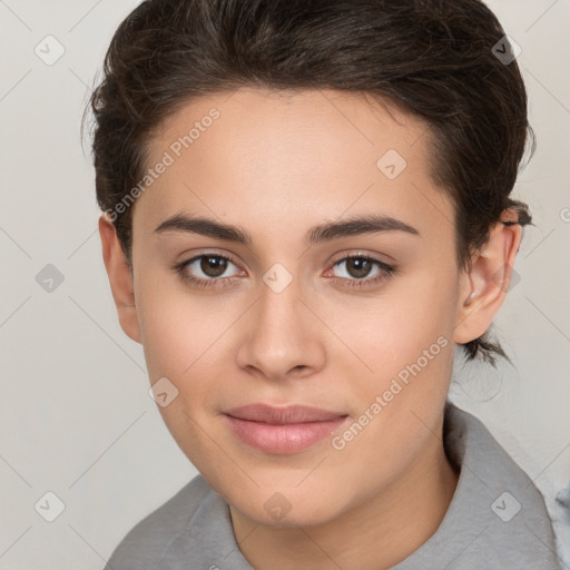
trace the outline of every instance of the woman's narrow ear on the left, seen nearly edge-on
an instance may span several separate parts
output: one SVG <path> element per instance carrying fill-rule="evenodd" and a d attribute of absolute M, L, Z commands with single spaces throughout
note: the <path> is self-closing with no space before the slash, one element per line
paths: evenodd
<path fill-rule="evenodd" d="M 99 218 L 99 235 L 102 245 L 102 259 L 109 276 L 120 326 L 127 336 L 139 343 L 140 331 L 135 304 L 132 274 L 117 237 L 115 225 L 106 214 L 102 214 Z"/>

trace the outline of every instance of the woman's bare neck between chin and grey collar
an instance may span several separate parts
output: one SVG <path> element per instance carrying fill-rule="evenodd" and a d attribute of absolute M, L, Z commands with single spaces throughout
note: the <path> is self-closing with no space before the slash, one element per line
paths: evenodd
<path fill-rule="evenodd" d="M 323 524 L 268 527 L 230 507 L 242 553 L 257 570 L 381 570 L 401 562 L 438 530 L 458 485 L 442 441 L 430 444 L 389 487 Z"/>

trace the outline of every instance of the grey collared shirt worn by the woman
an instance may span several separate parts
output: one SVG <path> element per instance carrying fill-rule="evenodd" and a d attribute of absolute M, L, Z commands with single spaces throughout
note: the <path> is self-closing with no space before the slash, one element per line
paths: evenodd
<path fill-rule="evenodd" d="M 470 413 L 445 406 L 444 449 L 461 469 L 435 533 L 392 570 L 560 570 L 544 500 Z M 105 570 L 252 570 L 227 503 L 202 475 L 137 523 Z"/>

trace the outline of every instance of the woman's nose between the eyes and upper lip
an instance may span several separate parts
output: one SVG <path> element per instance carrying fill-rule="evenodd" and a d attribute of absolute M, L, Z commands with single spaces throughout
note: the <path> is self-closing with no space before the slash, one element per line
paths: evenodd
<path fill-rule="evenodd" d="M 305 377 L 325 364 L 326 326 L 311 307 L 298 279 L 282 291 L 263 282 L 259 297 L 243 316 L 237 364 L 272 381 Z"/>

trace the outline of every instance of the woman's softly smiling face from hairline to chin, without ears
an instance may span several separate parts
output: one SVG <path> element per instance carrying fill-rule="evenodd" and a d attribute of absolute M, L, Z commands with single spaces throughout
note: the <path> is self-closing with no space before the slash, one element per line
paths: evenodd
<path fill-rule="evenodd" d="M 362 94 L 253 89 L 153 138 L 148 165 L 167 166 L 134 206 L 121 324 L 177 393 L 159 410 L 180 449 L 253 520 L 331 520 L 441 445 L 464 282 L 429 144 Z M 334 420 L 227 415 L 258 403 Z"/>

